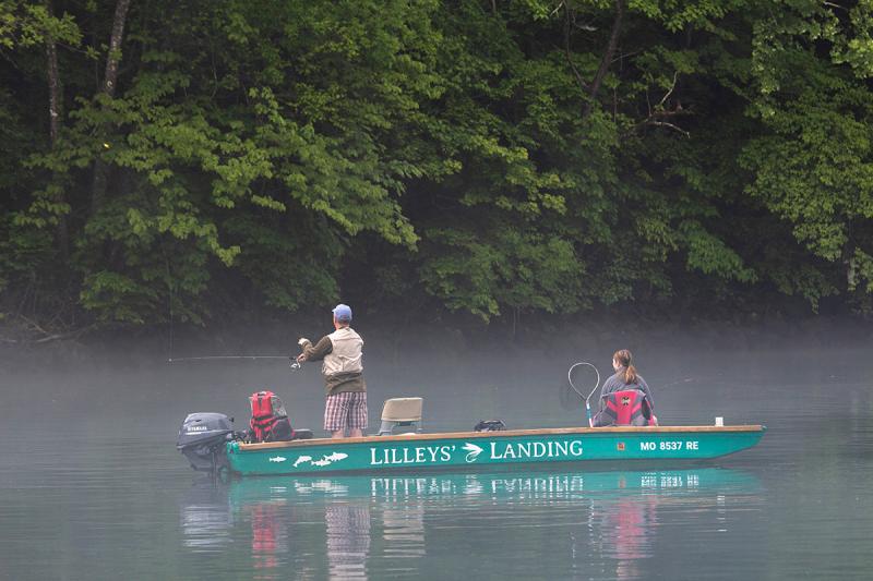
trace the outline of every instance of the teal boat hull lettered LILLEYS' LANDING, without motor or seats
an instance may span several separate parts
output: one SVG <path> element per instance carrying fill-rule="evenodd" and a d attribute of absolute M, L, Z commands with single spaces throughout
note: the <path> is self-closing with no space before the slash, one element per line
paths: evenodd
<path fill-rule="evenodd" d="M 227 445 L 240 475 L 477 470 L 513 464 L 708 460 L 756 445 L 765 427 L 513 429 Z"/>

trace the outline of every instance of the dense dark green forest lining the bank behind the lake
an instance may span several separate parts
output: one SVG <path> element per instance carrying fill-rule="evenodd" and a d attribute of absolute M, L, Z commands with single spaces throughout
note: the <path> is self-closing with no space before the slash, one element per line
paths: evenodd
<path fill-rule="evenodd" d="M 872 29 L 841 0 L 0 0 L 3 340 L 338 301 L 866 316 Z"/>

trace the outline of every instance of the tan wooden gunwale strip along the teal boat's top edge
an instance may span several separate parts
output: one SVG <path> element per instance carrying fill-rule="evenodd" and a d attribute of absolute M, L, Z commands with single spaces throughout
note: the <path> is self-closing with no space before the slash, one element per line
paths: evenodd
<path fill-rule="evenodd" d="M 256 444 L 234 443 L 240 452 L 254 452 L 274 448 L 308 448 L 311 446 L 345 446 L 347 444 L 372 444 L 388 441 L 427 441 L 434 439 L 502 438 L 513 436 L 562 436 L 573 434 L 675 434 L 675 433 L 737 433 L 765 432 L 760 424 L 715 426 L 609 426 L 609 427 L 543 427 L 533 429 L 502 429 L 499 432 L 441 432 L 427 434 L 397 434 L 391 436 L 362 436 L 355 438 L 310 438 Z"/>

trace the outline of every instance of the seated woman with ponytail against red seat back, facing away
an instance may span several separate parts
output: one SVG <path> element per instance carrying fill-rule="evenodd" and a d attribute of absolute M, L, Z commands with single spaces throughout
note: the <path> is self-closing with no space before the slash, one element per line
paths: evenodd
<path fill-rule="evenodd" d="M 610 425 L 658 425 L 651 391 L 631 365 L 631 352 L 626 349 L 612 355 L 615 374 L 603 383 L 600 390 L 600 411 L 594 417 L 594 426 Z"/>

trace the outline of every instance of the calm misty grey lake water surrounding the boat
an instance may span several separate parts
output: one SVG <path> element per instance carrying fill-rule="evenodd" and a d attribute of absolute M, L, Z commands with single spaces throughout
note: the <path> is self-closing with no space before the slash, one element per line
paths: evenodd
<path fill-rule="evenodd" d="M 662 423 L 767 425 L 758 447 L 714 464 L 229 484 L 199 479 L 177 452 L 186 413 L 241 427 L 247 395 L 270 387 L 298 427 L 319 428 L 315 367 L 8 362 L 0 578 L 870 579 L 873 346 L 818 343 L 629 344 Z M 589 361 L 606 372 L 619 347 Z M 373 352 L 371 427 L 402 395 L 424 397 L 427 431 L 584 423 L 562 390 L 577 353 L 398 364 Z"/>

